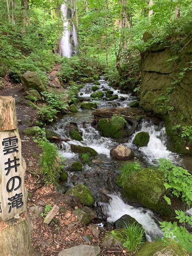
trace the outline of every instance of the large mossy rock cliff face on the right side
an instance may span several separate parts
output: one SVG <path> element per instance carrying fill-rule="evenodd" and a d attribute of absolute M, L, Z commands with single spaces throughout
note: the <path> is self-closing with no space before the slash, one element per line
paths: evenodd
<path fill-rule="evenodd" d="M 192 42 L 179 52 L 170 45 L 143 53 L 141 81 L 140 107 L 163 117 L 171 150 L 192 154 L 192 142 L 181 139 L 182 127 L 192 125 Z"/>

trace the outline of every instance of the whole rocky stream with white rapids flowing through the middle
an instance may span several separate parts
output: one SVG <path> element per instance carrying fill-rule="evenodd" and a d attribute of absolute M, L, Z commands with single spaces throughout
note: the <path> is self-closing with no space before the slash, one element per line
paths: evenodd
<path fill-rule="evenodd" d="M 114 90 L 108 85 L 108 83 L 101 77 L 99 90 L 106 88 L 112 90 L 114 94 L 119 97 L 117 100 L 97 100 L 95 101 L 98 108 L 110 108 L 110 107 L 128 107 L 135 97 L 131 94 L 122 93 L 119 90 Z M 90 100 L 90 94 L 92 93 L 93 83 L 86 83 L 80 90 L 81 97 Z M 93 99 L 91 99 L 94 101 Z M 60 153 L 66 158 L 64 164 L 66 171 L 68 171 L 68 182 L 65 183 L 64 192 L 74 186 L 74 184 L 83 183 L 87 186 L 95 199 L 95 207 L 102 212 L 98 224 L 103 226 L 103 215 L 107 216 L 107 222 L 115 222 L 121 216 L 128 214 L 135 218 L 145 228 L 147 241 L 153 241 L 156 237 L 162 237 L 162 231 L 158 227 L 158 221 L 160 221 L 158 215 L 151 210 L 141 207 L 138 204 L 126 201 L 119 192 L 119 188 L 116 185 L 116 178 L 119 175 L 119 167 L 125 161 L 113 160 L 110 157 L 110 150 L 119 143 L 115 139 L 102 137 L 98 130 L 92 127 L 94 116 L 93 110 L 79 109 L 77 113 L 64 116 L 51 128 L 61 138 L 70 138 L 67 125 L 70 122 L 75 122 L 78 126 L 79 132 L 81 132 L 83 141 L 71 140 L 69 142 L 62 142 L 59 145 Z M 136 147 L 133 144 L 133 140 L 137 132 L 145 131 L 150 135 L 149 143 L 147 147 Z M 98 152 L 98 155 L 94 157 L 90 166 L 87 164 L 83 166 L 83 170 L 80 172 L 71 172 L 70 164 L 78 161 L 78 154 L 72 153 L 70 144 L 92 147 Z M 144 167 L 157 164 L 158 158 L 171 159 L 174 164 L 182 166 L 183 159 L 179 154 L 175 154 L 167 149 L 167 136 L 164 127 L 164 122 L 154 121 L 154 119 L 143 119 L 136 132 L 132 134 L 130 139 L 126 143 L 121 143 L 132 149 L 134 153 L 134 160 L 140 162 Z M 126 161 L 127 162 L 127 161 Z M 100 223 L 101 222 L 101 223 Z"/>

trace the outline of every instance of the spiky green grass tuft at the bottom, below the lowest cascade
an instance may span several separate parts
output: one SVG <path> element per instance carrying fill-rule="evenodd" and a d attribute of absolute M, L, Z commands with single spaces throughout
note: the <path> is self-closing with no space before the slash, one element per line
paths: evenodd
<path fill-rule="evenodd" d="M 145 242 L 144 240 L 145 230 L 138 223 L 132 223 L 126 226 L 125 228 L 125 241 L 123 246 L 129 252 L 137 252 L 141 245 Z"/>

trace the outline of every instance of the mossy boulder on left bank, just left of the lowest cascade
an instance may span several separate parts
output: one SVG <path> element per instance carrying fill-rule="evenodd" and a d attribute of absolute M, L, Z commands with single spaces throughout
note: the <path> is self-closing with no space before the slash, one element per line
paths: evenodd
<path fill-rule="evenodd" d="M 91 191 L 83 184 L 70 188 L 70 190 L 66 192 L 66 195 L 79 197 L 82 205 L 92 206 L 94 204 L 94 197 Z"/>

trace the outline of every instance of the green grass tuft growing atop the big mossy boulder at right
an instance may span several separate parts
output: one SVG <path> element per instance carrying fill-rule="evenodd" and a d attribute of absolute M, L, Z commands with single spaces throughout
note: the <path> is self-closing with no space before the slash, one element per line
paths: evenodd
<path fill-rule="evenodd" d="M 141 165 L 138 162 L 127 162 L 121 166 L 121 182 L 120 186 L 124 188 L 129 177 L 141 171 Z"/>

